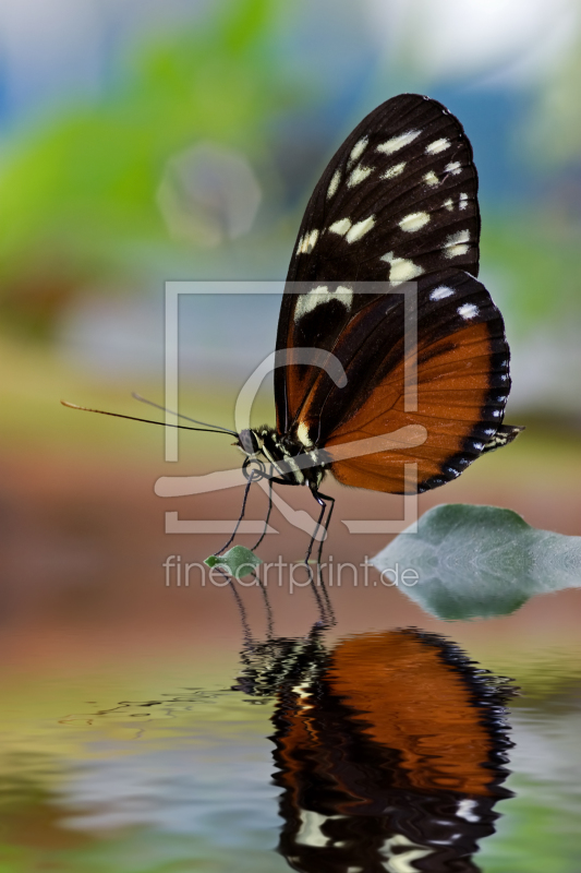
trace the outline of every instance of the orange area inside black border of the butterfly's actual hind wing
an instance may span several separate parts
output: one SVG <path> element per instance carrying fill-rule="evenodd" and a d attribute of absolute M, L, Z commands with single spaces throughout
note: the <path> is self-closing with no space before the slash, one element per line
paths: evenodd
<path fill-rule="evenodd" d="M 486 323 L 458 332 L 451 347 L 448 338 L 439 340 L 432 347 L 429 360 L 417 366 L 417 411 L 406 410 L 402 362 L 374 390 L 367 403 L 334 432 L 326 450 L 332 458 L 335 445 L 379 436 L 410 424 L 426 429 L 425 442 L 401 452 L 338 461 L 331 467 L 336 479 L 355 488 L 414 493 L 415 481 L 406 483 L 406 464 L 417 464 L 419 491 L 458 477 L 481 455 L 501 421 L 498 414 L 504 408 L 504 394 L 499 395 L 492 382 L 507 374 L 508 367 L 495 367 L 497 348 Z M 508 363 L 508 348 L 503 360 Z"/>

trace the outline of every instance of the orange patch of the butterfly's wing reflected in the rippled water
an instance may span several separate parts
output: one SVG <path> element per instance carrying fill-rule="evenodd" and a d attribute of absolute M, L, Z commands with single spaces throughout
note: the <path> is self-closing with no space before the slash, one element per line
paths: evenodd
<path fill-rule="evenodd" d="M 461 671 L 437 646 L 400 631 L 346 639 L 334 651 L 328 680 L 364 733 L 399 750 L 395 785 L 488 793 L 493 738 Z"/>

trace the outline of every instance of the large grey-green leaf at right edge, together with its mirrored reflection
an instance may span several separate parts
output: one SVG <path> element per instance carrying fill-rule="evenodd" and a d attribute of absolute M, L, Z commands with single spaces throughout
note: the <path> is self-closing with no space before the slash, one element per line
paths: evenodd
<path fill-rule="evenodd" d="M 511 510 L 448 504 L 426 512 L 415 535 L 400 534 L 373 563 L 391 571 L 386 585 L 397 570 L 400 590 L 436 618 L 493 618 L 533 595 L 581 587 L 581 537 L 537 530 Z M 408 569 L 415 584 L 401 584 Z"/>

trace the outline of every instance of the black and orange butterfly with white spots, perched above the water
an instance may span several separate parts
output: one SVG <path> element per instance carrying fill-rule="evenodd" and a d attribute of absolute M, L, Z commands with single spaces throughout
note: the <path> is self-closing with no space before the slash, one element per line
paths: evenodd
<path fill-rule="evenodd" d="M 477 187 L 458 119 L 437 100 L 401 94 L 363 119 L 313 191 L 280 310 L 277 352 L 286 366 L 275 370 L 276 427 L 243 431 L 238 445 L 271 464 L 274 481 L 307 486 L 322 507 L 319 524 L 327 501 L 332 511 L 319 491 L 329 473 L 355 488 L 421 493 L 522 430 L 503 424 L 510 351 L 503 316 L 476 278 Z M 406 299 L 396 292 L 410 282 L 411 409 Z M 382 290 L 386 284 L 392 294 Z M 323 358 L 305 363 L 306 349 Z M 342 380 L 322 366 L 325 355 L 340 364 Z M 386 434 L 402 439 L 380 451 Z M 370 439 L 379 451 L 344 457 L 342 446 Z"/>

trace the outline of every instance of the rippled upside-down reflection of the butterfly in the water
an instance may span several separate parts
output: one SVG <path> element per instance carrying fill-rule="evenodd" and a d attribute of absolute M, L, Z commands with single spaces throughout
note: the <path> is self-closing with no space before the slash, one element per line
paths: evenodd
<path fill-rule="evenodd" d="M 313 873 L 476 871 L 507 776 L 507 680 L 419 630 L 247 643 L 237 690 L 275 695 L 278 851 Z"/>

